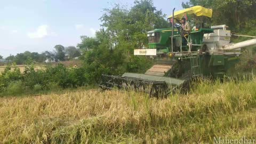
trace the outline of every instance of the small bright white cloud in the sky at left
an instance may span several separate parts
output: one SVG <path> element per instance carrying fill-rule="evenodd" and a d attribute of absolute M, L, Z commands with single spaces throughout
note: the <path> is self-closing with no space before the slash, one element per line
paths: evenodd
<path fill-rule="evenodd" d="M 41 25 L 37 28 L 35 32 L 29 32 L 27 35 L 29 38 L 44 38 L 46 36 L 55 36 L 57 34 L 55 34 L 54 32 L 50 32 L 49 26 Z"/>

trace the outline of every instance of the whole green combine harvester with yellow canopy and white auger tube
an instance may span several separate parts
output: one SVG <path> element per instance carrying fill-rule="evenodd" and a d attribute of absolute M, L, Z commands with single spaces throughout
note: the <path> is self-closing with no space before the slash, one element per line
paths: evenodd
<path fill-rule="evenodd" d="M 211 9 L 193 6 L 177 12 L 174 10 L 168 18 L 172 28 L 148 31 L 148 49 L 134 50 L 134 55 L 153 58 L 153 67 L 145 74 L 102 75 L 99 84 L 102 89 L 140 90 L 149 93 L 150 97 L 167 95 L 177 87 L 186 87 L 194 77 L 223 77 L 238 62 L 241 48 L 256 45 L 255 37 L 230 43 L 231 33 L 226 25 L 204 27 L 207 19 L 212 17 Z M 177 24 L 183 17 L 189 18 L 193 28 L 187 35 Z"/>

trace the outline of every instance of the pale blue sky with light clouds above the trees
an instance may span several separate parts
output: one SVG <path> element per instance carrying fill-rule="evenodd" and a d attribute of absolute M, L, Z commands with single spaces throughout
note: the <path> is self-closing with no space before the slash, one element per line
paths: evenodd
<path fill-rule="evenodd" d="M 157 10 L 171 15 L 188 0 L 153 0 Z M 93 37 L 100 29 L 103 9 L 133 0 L 0 0 L 0 55 L 52 51 L 57 44 L 76 46 L 80 36 Z"/>

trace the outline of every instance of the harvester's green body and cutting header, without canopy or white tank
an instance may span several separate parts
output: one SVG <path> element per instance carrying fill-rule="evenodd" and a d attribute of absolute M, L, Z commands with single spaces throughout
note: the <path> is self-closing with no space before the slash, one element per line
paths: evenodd
<path fill-rule="evenodd" d="M 203 36 L 213 33 L 212 29 L 202 28 L 191 31 L 186 36 L 189 46 L 182 44 L 180 33 L 182 31 L 178 29 L 172 31 L 170 28 L 149 31 L 149 49 L 156 49 L 154 66 L 145 74 L 102 75 L 99 86 L 103 90 L 117 87 L 124 90 L 143 91 L 149 93 L 150 97 L 165 97 L 178 87 L 188 90 L 191 77 L 221 78 L 238 61 L 235 54 L 205 51 Z"/>

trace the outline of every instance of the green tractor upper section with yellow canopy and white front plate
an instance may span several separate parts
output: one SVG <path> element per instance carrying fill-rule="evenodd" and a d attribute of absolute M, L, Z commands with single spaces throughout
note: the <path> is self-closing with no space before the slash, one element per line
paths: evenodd
<path fill-rule="evenodd" d="M 193 27 L 190 31 L 184 31 L 181 26 L 181 19 L 186 17 L 188 25 Z M 206 27 L 207 18 L 212 17 L 212 10 L 202 6 L 194 6 L 189 9 L 174 12 L 167 19 L 172 28 L 155 29 L 148 31 L 149 49 L 134 50 L 135 55 L 169 55 L 180 57 L 193 54 L 200 50 L 203 44 L 204 34 L 213 33 L 213 29 Z M 185 34 L 186 32 L 186 34 Z M 185 40 L 185 41 L 184 41 Z M 153 52 L 154 49 L 155 51 Z M 171 55 L 170 55 L 171 54 Z"/>

